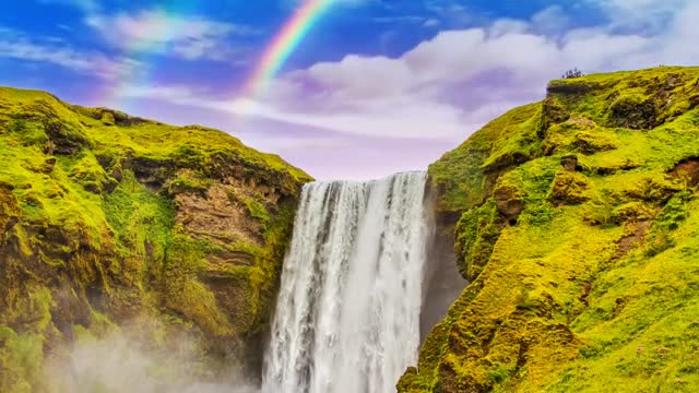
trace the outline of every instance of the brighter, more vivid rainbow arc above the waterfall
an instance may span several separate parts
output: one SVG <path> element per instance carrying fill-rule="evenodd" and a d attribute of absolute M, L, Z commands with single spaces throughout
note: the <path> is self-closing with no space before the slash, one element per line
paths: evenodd
<path fill-rule="evenodd" d="M 260 95 L 333 0 L 304 0 L 272 39 L 244 88 L 244 97 Z"/>

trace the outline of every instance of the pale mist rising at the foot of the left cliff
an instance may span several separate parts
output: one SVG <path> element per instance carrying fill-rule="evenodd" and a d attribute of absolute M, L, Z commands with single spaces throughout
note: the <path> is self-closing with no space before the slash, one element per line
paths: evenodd
<path fill-rule="evenodd" d="M 50 393 L 257 393 L 235 367 L 204 362 L 186 335 L 167 340 L 167 347 L 121 332 L 103 340 L 79 340 L 48 359 L 46 390 Z M 223 376 L 222 376 L 223 374 Z"/>

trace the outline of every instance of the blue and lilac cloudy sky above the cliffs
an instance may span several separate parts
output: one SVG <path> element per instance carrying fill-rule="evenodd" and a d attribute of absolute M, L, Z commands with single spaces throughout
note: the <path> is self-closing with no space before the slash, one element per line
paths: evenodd
<path fill-rule="evenodd" d="M 371 179 L 426 169 L 568 69 L 696 66 L 696 0 L 8 1 L 0 85 L 216 128 L 317 179 Z"/>

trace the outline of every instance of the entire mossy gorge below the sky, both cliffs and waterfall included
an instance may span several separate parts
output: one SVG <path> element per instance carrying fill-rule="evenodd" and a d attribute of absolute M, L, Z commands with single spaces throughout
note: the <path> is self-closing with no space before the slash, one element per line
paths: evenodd
<path fill-rule="evenodd" d="M 698 134 L 697 68 L 594 74 L 312 181 L 2 87 L 0 391 L 692 392 Z"/>

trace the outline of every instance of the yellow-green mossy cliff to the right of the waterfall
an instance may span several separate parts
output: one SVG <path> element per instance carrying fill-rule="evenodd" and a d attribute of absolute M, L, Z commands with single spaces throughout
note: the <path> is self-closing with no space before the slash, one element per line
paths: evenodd
<path fill-rule="evenodd" d="M 400 392 L 699 386 L 699 69 L 554 81 L 429 169 L 471 279 Z"/>

